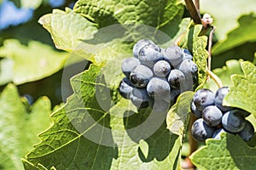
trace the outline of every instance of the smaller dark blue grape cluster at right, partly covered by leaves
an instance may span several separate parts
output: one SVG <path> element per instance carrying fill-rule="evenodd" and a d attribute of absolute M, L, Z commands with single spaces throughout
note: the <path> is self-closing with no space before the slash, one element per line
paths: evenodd
<path fill-rule="evenodd" d="M 196 91 L 191 111 L 199 119 L 193 123 L 191 133 L 197 141 L 220 139 L 220 133 L 238 134 L 246 142 L 253 138 L 254 127 L 245 119 L 250 113 L 223 105 L 229 91 L 228 87 L 218 88 L 216 94 L 207 88 Z"/>

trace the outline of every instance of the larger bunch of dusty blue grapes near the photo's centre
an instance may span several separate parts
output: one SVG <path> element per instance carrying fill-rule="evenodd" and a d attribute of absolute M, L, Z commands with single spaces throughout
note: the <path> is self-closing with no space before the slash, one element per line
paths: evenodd
<path fill-rule="evenodd" d="M 137 108 L 166 111 L 179 94 L 193 90 L 198 68 L 187 49 L 160 48 L 142 39 L 133 46 L 133 55 L 123 60 L 125 78 L 119 83 L 119 94 Z"/>

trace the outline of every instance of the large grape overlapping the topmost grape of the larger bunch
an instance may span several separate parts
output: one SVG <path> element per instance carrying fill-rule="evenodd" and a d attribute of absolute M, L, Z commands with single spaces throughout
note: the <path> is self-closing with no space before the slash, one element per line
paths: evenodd
<path fill-rule="evenodd" d="M 138 59 L 141 64 L 147 65 L 150 69 L 153 69 L 157 61 L 164 59 L 164 55 L 157 51 L 152 45 L 146 45 L 140 50 Z"/>

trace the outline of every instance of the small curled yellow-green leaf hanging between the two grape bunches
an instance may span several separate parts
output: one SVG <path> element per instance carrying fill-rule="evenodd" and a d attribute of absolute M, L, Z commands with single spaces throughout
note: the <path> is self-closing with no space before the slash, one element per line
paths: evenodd
<path fill-rule="evenodd" d="M 177 135 L 183 136 L 189 124 L 190 103 L 194 92 L 184 92 L 177 98 L 166 117 L 167 128 Z"/>

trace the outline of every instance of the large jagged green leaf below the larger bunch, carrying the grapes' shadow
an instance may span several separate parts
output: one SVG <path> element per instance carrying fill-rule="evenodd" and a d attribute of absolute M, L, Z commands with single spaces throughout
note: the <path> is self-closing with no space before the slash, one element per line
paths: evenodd
<path fill-rule="evenodd" d="M 166 115 L 137 111 L 127 99 L 113 105 L 104 77 L 96 65 L 73 77 L 74 94 L 26 161 L 48 169 L 177 169 L 180 139 L 166 129 Z"/>

